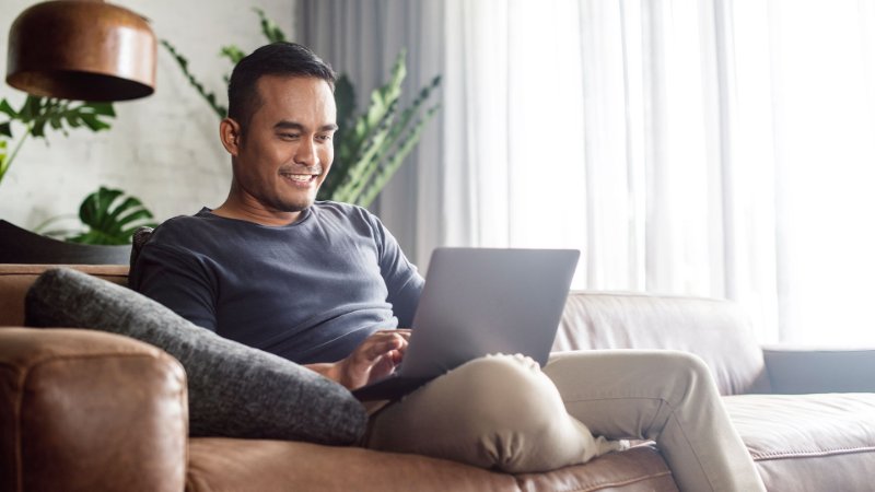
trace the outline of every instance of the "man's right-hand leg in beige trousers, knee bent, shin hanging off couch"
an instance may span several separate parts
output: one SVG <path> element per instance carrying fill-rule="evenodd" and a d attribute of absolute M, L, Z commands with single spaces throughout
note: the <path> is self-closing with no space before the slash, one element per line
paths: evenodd
<path fill-rule="evenodd" d="M 557 353 L 544 368 L 596 435 L 656 441 L 682 491 L 763 491 L 701 359 L 674 351 Z"/>

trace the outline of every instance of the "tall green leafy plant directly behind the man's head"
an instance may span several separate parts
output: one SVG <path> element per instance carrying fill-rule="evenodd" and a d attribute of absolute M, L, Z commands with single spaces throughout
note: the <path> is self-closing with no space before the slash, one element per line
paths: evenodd
<path fill-rule="evenodd" d="M 267 19 L 260 9 L 258 14 L 261 34 L 269 43 L 285 40 L 279 26 Z M 188 69 L 188 60 L 166 39 L 164 46 L 173 55 L 183 74 L 192 87 L 210 105 L 219 118 L 224 118 L 228 108 L 218 103 L 214 93 L 205 89 Z M 341 74 L 336 83 L 337 120 L 340 127 L 335 134 L 335 162 L 331 172 L 319 189 L 320 200 L 345 201 L 370 206 L 392 176 L 416 148 L 428 122 L 438 113 L 440 105 L 425 107 L 432 93 L 441 84 L 434 77 L 422 87 L 406 108 L 400 108 L 401 85 L 407 77 L 405 50 L 398 55 L 389 81 L 371 93 L 368 109 L 355 116 L 355 91 L 349 78 Z M 220 56 L 232 63 L 245 55 L 236 46 L 223 46 Z M 228 75 L 224 77 L 228 82 Z"/>

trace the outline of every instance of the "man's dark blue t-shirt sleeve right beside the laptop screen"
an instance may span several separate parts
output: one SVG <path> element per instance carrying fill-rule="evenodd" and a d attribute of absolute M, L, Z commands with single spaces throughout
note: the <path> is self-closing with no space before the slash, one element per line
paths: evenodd
<path fill-rule="evenodd" d="M 409 328 L 419 305 L 419 296 L 425 281 L 401 251 L 401 247 L 385 225 L 373 216 L 380 248 L 380 272 L 388 290 L 387 301 L 398 318 L 398 326 Z"/>

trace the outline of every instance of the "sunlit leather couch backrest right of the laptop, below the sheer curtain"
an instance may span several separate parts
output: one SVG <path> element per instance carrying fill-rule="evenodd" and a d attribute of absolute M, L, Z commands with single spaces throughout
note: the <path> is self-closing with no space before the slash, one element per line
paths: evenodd
<path fill-rule="evenodd" d="M 669 349 L 704 360 L 723 395 L 768 391 L 762 350 L 731 301 L 575 291 L 553 350 Z"/>

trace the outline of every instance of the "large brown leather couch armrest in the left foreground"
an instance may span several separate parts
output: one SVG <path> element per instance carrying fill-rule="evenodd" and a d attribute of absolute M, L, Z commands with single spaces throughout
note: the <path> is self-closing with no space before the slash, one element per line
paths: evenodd
<path fill-rule="evenodd" d="M 186 379 L 117 335 L 0 328 L 0 491 L 182 491 Z"/>

